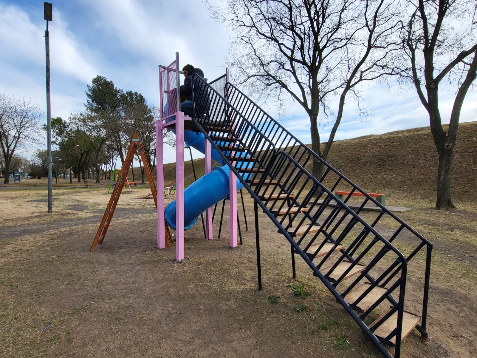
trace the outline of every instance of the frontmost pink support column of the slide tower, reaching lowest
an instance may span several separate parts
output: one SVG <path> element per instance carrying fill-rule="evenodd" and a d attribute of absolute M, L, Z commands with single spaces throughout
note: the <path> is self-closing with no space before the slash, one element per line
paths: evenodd
<path fill-rule="evenodd" d="M 184 112 L 176 114 L 176 261 L 184 259 Z"/>

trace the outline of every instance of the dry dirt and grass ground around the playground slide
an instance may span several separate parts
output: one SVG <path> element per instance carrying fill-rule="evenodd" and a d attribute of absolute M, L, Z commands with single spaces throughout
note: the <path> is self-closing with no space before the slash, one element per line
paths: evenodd
<path fill-rule="evenodd" d="M 107 188 L 55 188 L 50 214 L 45 189 L 0 190 L 0 357 L 381 357 L 300 260 L 291 278 L 290 246 L 261 213 L 257 290 L 248 195 L 243 245 L 230 249 L 227 215 L 211 241 L 199 220 L 186 232 L 189 261 L 171 263 L 174 245 L 156 249 L 154 202 L 140 199 L 147 193 L 147 185 L 124 192 L 104 243 L 90 253 Z M 430 344 L 414 331 L 401 357 L 476 357 L 477 205 L 409 206 L 400 216 L 435 250 Z M 308 298 L 295 298 L 289 285 L 297 283 Z"/>

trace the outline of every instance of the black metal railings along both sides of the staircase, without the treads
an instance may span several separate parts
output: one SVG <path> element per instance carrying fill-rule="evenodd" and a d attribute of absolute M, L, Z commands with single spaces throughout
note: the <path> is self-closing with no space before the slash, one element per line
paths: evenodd
<path fill-rule="evenodd" d="M 422 324 L 417 327 L 423 336 L 426 337 L 425 323 L 427 316 L 430 252 L 432 250 L 432 244 L 395 216 L 391 211 L 387 210 L 383 205 L 353 184 L 351 180 L 342 176 L 341 173 L 322 160 L 310 148 L 302 144 L 296 137 L 291 135 L 290 132 L 266 114 L 258 105 L 251 101 L 236 87 L 231 84 L 226 84 L 224 95 L 222 96 L 216 89 L 212 88 L 198 76 L 195 76 L 192 82 L 195 101 L 193 120 L 197 127 L 200 128 L 207 139 L 211 141 L 214 148 L 220 153 L 221 157 L 243 182 L 245 188 L 250 192 L 259 206 L 262 207 L 270 219 L 277 225 L 280 232 L 287 238 L 295 252 L 300 254 L 303 260 L 311 267 L 313 273 L 321 278 L 332 294 L 335 295 L 337 301 L 339 301 L 348 313 L 353 316 L 353 319 L 363 331 L 370 336 L 373 342 L 378 345 L 386 357 L 391 357 L 391 355 L 385 349 L 384 344 L 394 336 L 396 337 L 395 357 L 399 357 L 401 327 L 404 315 L 407 262 L 411 260 L 415 254 L 422 249 L 422 247 L 427 247 L 423 316 Z M 320 180 L 314 178 L 305 169 L 310 158 L 320 160 L 326 168 Z M 247 164 L 244 165 L 243 163 Z M 244 174 L 245 172 L 249 172 L 251 167 L 263 168 L 263 171 Z M 330 175 L 330 173 L 334 173 L 338 177 L 334 185 L 331 186 L 331 190 L 323 184 L 323 181 L 327 179 L 327 176 Z M 281 179 L 284 179 L 283 184 L 280 183 Z M 357 212 L 354 212 L 346 204 L 349 197 L 345 200 L 340 200 L 333 193 L 341 180 L 352 186 L 351 192 L 358 190 L 363 193 L 365 201 Z M 254 184 L 256 186 L 255 189 L 252 190 L 251 186 Z M 296 190 L 298 190 L 298 192 L 296 192 Z M 268 191 L 270 195 L 268 196 L 268 199 L 261 200 L 260 198 L 264 197 L 262 194 L 265 191 Z M 260 194 L 260 192 L 262 194 Z M 292 195 L 291 192 L 294 194 Z M 274 193 L 277 194 L 277 199 L 273 200 L 271 199 L 271 194 Z M 279 204 L 278 197 L 282 193 L 285 194 L 287 200 L 283 200 L 281 201 L 281 204 Z M 321 198 L 323 198 L 323 200 L 322 202 L 319 202 Z M 363 210 L 365 203 L 370 200 L 381 209 L 381 213 L 372 224 L 368 224 L 359 215 L 359 212 Z M 285 201 L 287 201 L 290 206 L 285 210 L 283 218 L 279 220 L 277 216 L 280 215 L 280 212 L 285 205 Z M 320 229 L 314 230 L 316 233 L 312 234 L 313 232 L 311 231 L 310 226 L 302 234 L 301 239 L 299 239 L 298 242 L 295 241 L 293 236 L 295 236 L 298 229 L 305 223 L 305 221 L 309 221 L 315 226 L 318 225 L 321 215 L 331 201 L 335 202 L 335 208 L 320 224 Z M 291 213 L 291 208 L 293 208 L 294 213 Z M 342 215 L 339 218 L 340 213 L 342 213 Z M 384 214 L 388 214 L 400 224 L 398 230 L 394 232 L 389 240 L 375 230 L 375 225 L 381 220 Z M 296 229 L 293 229 L 293 231 L 290 232 L 291 222 L 297 219 L 298 215 L 302 215 L 300 224 L 296 225 Z M 287 216 L 289 218 L 289 223 L 284 224 Z M 328 271 L 323 274 L 320 271 L 320 268 L 331 256 L 334 249 L 324 255 L 319 263 L 312 262 L 312 260 L 316 258 L 317 253 L 327 242 L 331 242 L 333 248 L 337 248 L 343 240 L 348 236 L 352 236 L 350 233 L 353 229 L 357 228 L 357 225 L 362 227 L 360 233 L 351 244 L 348 245 L 347 249 L 338 250 L 338 252 L 341 253 L 340 258 L 332 266 L 327 267 L 326 270 Z M 333 227 L 331 228 L 331 226 Z M 331 230 L 329 230 L 330 228 Z M 418 247 L 407 257 L 405 257 L 403 253 L 392 244 L 394 239 L 404 228 L 408 229 L 409 232 L 415 234 L 415 237 L 420 239 Z M 318 242 L 321 243 L 318 245 L 318 248 L 314 249 L 314 253 L 307 253 L 308 249 L 321 234 L 325 236 L 325 239 L 322 242 L 321 239 L 318 240 Z M 336 236 L 335 234 L 337 235 L 336 239 L 334 238 Z M 371 242 L 368 243 L 366 240 L 368 240 L 369 236 L 372 239 Z M 307 240 L 306 242 L 308 243 L 305 242 L 303 244 L 305 247 L 303 248 L 300 245 L 305 240 L 305 237 Z M 378 247 L 379 244 L 382 245 L 381 249 Z M 378 249 L 377 253 L 373 253 L 373 250 L 375 249 Z M 358 253 L 358 250 L 362 251 Z M 376 263 L 378 263 L 385 255 L 388 255 L 387 257 L 389 257 L 389 253 L 394 253 L 394 262 L 385 269 L 384 272 L 379 274 L 377 279 L 374 279 L 371 275 L 371 270 L 376 268 Z M 358 254 L 356 259 L 353 258 L 354 254 Z M 366 255 L 372 257 L 370 263 L 362 270 L 362 273 L 357 276 L 353 283 L 351 283 L 350 286 L 340 294 L 337 290 L 338 284 L 346 278 L 345 276 L 347 276 L 353 268 L 358 265 L 362 266 L 360 265 L 360 261 Z M 343 262 L 349 262 L 350 265 L 340 277 L 331 279 L 329 274 L 335 267 Z M 400 273 L 400 275 L 398 275 L 398 273 Z M 364 296 L 378 285 L 384 287 L 389 286 L 390 284 L 391 286 L 385 287 L 385 294 L 382 295 L 374 305 L 367 309 L 366 312 L 361 316 L 358 316 L 353 311 L 352 306 L 344 301 L 344 297 L 364 278 L 371 282 L 370 287 L 366 289 L 355 303 L 361 301 Z M 333 280 L 335 281 L 334 283 L 332 283 Z M 399 288 L 399 298 L 396 301 L 391 294 L 397 288 Z M 387 299 L 392 303 L 394 308 L 390 310 L 383 319 L 377 322 L 372 329 L 370 329 L 368 326 L 364 325 L 363 318 L 384 299 Z M 373 335 L 373 331 L 395 312 L 397 312 L 398 315 L 398 325 L 388 337 L 382 337 L 383 339 L 380 342 Z"/>

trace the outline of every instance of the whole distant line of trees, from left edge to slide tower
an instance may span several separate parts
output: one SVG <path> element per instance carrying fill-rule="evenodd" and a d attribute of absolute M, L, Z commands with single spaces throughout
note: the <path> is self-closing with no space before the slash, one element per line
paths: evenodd
<path fill-rule="evenodd" d="M 159 108 L 147 105 L 138 92 L 123 91 L 113 81 L 97 75 L 87 85 L 84 110 L 71 114 L 67 120 L 52 118 L 52 174 L 70 182 L 111 178 L 112 170 L 122 166 L 134 134 L 138 134 L 150 168 L 156 166 L 155 121 Z M 42 113 L 38 103 L 17 100 L 0 94 L 0 172 L 4 183 L 15 171 L 31 172 L 35 177 L 47 177 L 47 151 L 38 149 L 31 158 L 18 155 L 18 150 L 30 145 L 44 145 L 41 127 Z M 174 146 L 174 137 L 163 132 L 164 142 Z M 145 168 L 138 153 L 141 182 Z M 132 169 L 133 180 L 138 175 Z"/>

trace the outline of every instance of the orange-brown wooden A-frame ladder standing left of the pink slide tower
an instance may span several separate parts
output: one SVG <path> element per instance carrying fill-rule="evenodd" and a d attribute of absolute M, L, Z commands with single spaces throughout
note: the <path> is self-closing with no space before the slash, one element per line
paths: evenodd
<path fill-rule="evenodd" d="M 129 172 L 129 167 L 133 163 L 134 156 L 136 152 L 139 150 L 139 155 L 144 163 L 145 174 L 147 180 L 149 181 L 149 186 L 151 187 L 151 193 L 154 198 L 154 203 L 156 204 L 157 210 L 157 189 L 156 189 L 156 182 L 152 176 L 151 168 L 149 168 L 149 162 L 145 157 L 144 148 L 141 144 L 139 136 L 135 134 L 133 139 L 131 140 L 131 144 L 129 145 L 129 149 L 127 150 L 126 158 L 124 158 L 123 167 L 119 173 L 120 180 L 114 185 L 113 192 L 111 193 L 111 198 L 109 199 L 108 205 L 106 206 L 106 211 L 104 211 L 103 219 L 99 224 L 98 232 L 96 232 L 96 236 L 94 237 L 93 244 L 91 245 L 90 252 L 92 253 L 96 247 L 96 245 L 102 244 L 104 240 L 104 236 L 106 236 L 106 232 L 108 231 L 109 225 L 111 224 L 111 220 L 113 219 L 114 209 L 116 209 L 116 205 L 119 201 L 119 197 L 121 192 L 124 188 L 124 183 L 126 182 L 127 173 Z M 166 245 L 167 248 L 171 247 L 171 240 L 170 240 L 170 232 L 169 227 L 166 224 Z"/>

